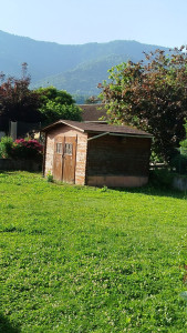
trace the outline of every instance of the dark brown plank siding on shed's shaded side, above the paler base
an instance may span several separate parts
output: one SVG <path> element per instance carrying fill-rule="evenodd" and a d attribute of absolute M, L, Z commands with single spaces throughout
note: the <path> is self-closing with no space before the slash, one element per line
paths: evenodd
<path fill-rule="evenodd" d="M 87 147 L 87 175 L 147 176 L 150 139 L 106 135 Z"/>

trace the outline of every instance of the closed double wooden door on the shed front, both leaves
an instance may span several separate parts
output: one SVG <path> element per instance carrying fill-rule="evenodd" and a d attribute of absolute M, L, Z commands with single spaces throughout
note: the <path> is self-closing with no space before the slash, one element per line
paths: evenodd
<path fill-rule="evenodd" d="M 76 137 L 54 140 L 53 178 L 65 183 L 75 182 Z"/>

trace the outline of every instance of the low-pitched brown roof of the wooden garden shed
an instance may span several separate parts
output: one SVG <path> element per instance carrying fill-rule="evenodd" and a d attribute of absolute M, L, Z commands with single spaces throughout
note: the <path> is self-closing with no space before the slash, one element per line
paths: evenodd
<path fill-rule="evenodd" d="M 54 129 L 59 125 L 69 125 L 80 132 L 83 133 L 114 133 L 114 134 L 128 134 L 131 137 L 146 137 L 152 138 L 150 133 L 141 131 L 133 127 L 127 125 L 110 125 L 110 124 L 101 124 L 101 123 L 85 123 L 72 120 L 59 120 L 48 127 L 45 127 L 42 132 L 49 132 L 50 130 Z"/>

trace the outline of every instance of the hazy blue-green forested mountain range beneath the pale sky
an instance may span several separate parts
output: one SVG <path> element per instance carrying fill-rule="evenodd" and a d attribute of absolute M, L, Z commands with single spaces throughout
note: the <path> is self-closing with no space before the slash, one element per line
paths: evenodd
<path fill-rule="evenodd" d="M 143 51 L 158 48 L 165 49 L 125 40 L 58 44 L 0 31 L 0 72 L 19 77 L 21 63 L 27 62 L 31 88 L 54 85 L 72 94 L 97 94 L 97 83 L 107 79 L 110 68 L 127 60 L 139 61 Z"/>

